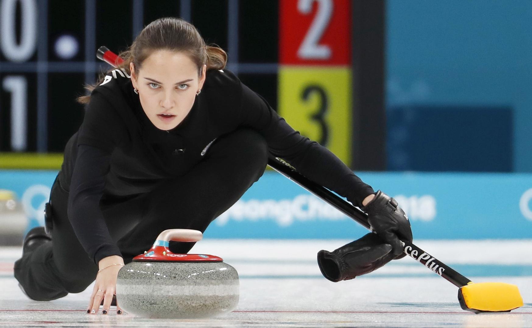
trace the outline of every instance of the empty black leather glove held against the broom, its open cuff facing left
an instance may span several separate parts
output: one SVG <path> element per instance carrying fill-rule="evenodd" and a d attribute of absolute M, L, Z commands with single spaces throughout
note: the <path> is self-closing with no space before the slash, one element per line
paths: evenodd
<path fill-rule="evenodd" d="M 318 266 L 330 281 L 353 279 L 393 260 L 392 246 L 383 243 L 373 232 L 351 241 L 333 252 L 318 252 Z"/>

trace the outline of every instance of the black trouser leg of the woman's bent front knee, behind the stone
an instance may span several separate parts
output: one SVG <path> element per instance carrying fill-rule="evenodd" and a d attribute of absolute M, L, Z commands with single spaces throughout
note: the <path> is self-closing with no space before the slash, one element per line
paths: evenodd
<path fill-rule="evenodd" d="M 241 128 L 219 137 L 208 157 L 187 174 L 148 193 L 142 221 L 119 240 L 124 263 L 151 248 L 166 229 L 202 232 L 236 203 L 264 173 L 268 146 L 257 132 Z M 170 241 L 170 249 L 187 253 L 195 243 Z"/>

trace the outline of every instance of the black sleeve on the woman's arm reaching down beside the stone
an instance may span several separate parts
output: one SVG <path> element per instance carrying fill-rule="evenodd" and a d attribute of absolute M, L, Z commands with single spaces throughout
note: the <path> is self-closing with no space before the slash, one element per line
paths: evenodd
<path fill-rule="evenodd" d="M 124 124 L 102 94 L 93 93 L 78 133 L 78 153 L 68 199 L 68 218 L 89 258 L 119 255 L 99 207 L 111 154 L 121 142 Z M 123 135 L 122 135 L 123 137 Z"/>

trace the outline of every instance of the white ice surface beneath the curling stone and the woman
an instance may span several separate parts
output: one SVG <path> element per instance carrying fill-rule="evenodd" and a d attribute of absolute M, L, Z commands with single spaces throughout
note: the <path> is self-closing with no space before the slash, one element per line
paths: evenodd
<path fill-rule="evenodd" d="M 353 280 L 328 281 L 316 253 L 348 241 L 204 239 L 190 253 L 221 256 L 237 269 L 239 305 L 217 318 L 187 321 L 117 315 L 114 306 L 106 315 L 87 314 L 93 284 L 53 301 L 28 299 L 13 278 L 21 248 L 0 247 L 0 326 L 532 327 L 532 240 L 416 240 L 473 281 L 517 284 L 525 306 L 478 315 L 460 308 L 456 287 L 411 258 Z"/>

